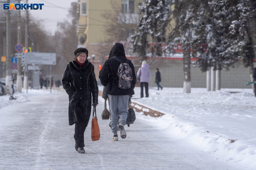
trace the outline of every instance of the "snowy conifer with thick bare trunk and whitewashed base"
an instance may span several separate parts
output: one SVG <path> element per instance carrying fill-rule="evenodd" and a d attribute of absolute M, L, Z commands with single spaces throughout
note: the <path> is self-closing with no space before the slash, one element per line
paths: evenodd
<path fill-rule="evenodd" d="M 172 12 L 172 18 L 175 19 L 176 25 L 168 35 L 166 54 L 172 53 L 173 48 L 178 44 L 182 44 L 183 48 L 183 72 L 184 72 L 184 83 L 183 92 L 191 92 L 191 76 L 190 76 L 190 65 L 191 65 L 191 29 L 193 28 L 193 11 L 197 10 L 195 1 L 189 0 L 175 0 L 175 7 Z"/>

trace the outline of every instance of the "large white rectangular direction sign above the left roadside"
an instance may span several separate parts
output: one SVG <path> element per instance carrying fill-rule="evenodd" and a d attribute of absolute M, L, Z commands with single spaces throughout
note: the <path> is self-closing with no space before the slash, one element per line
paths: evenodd
<path fill-rule="evenodd" d="M 22 64 L 56 65 L 56 53 L 29 52 L 23 53 Z"/>

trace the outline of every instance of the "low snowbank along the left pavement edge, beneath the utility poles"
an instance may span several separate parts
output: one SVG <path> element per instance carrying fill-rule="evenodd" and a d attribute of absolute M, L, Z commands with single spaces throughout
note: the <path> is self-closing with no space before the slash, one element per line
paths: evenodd
<path fill-rule="evenodd" d="M 28 93 L 26 89 L 22 89 L 22 93 L 16 92 L 14 93 L 14 97 L 17 98 L 16 100 L 9 100 L 10 95 L 4 95 L 0 96 L 0 108 L 5 107 L 10 104 L 16 104 L 16 103 L 23 103 L 27 102 L 28 97 L 30 96 L 40 96 L 40 95 L 55 95 L 58 94 L 57 90 L 52 90 L 52 93 L 50 90 L 47 89 L 28 89 Z"/>

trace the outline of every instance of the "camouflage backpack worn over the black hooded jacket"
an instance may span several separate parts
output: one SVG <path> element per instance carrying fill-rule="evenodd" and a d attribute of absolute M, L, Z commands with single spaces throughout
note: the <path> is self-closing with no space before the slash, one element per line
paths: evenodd
<path fill-rule="evenodd" d="M 121 89 L 131 88 L 132 80 L 133 80 L 133 71 L 130 65 L 127 64 L 130 62 L 130 60 L 126 59 L 126 61 L 121 61 L 116 56 L 114 56 L 113 58 L 121 63 L 117 70 L 117 78 L 118 78 L 117 86 Z"/>

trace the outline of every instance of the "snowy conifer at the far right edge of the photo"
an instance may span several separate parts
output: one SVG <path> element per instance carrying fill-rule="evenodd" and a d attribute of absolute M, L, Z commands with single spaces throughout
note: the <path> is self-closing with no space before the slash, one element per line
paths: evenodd
<path fill-rule="evenodd" d="M 234 16 L 227 37 L 227 41 L 231 45 L 224 54 L 242 60 L 244 66 L 249 67 L 249 74 L 251 81 L 253 81 L 253 61 L 256 56 L 256 1 L 239 0 L 236 3 L 233 2 L 231 10 Z"/>

